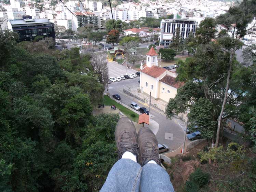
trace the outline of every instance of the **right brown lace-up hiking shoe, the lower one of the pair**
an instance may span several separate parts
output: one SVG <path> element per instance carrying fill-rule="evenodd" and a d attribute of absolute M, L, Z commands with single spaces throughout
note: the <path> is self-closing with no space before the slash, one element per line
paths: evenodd
<path fill-rule="evenodd" d="M 161 165 L 158 153 L 157 138 L 148 127 L 140 128 L 137 136 L 137 142 L 139 145 L 139 164 L 141 166 L 145 165 L 151 160 L 155 161 L 158 165 Z"/>

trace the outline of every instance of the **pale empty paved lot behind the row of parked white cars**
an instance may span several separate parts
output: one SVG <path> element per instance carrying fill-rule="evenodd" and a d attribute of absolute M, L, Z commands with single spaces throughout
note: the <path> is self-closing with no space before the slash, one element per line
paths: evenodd
<path fill-rule="evenodd" d="M 127 74 L 138 72 L 134 69 L 127 68 Z M 124 76 L 126 74 L 126 68 L 122 65 L 119 65 L 115 62 L 108 63 L 108 74 L 109 77 L 117 77 L 117 76 Z"/>

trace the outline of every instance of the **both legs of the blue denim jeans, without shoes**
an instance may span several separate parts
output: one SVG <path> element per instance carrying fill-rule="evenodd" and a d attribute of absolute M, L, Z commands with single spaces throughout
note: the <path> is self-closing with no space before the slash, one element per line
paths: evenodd
<path fill-rule="evenodd" d="M 174 192 L 168 173 L 159 165 L 141 167 L 130 159 L 120 159 L 111 168 L 100 192 Z"/>

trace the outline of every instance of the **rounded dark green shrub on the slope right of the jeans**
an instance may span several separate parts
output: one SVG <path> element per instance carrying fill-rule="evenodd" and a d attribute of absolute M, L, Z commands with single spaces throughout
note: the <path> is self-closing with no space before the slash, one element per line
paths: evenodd
<path fill-rule="evenodd" d="M 194 173 L 189 176 L 189 180 L 198 184 L 199 187 L 203 187 L 208 184 L 210 175 L 198 168 Z"/>

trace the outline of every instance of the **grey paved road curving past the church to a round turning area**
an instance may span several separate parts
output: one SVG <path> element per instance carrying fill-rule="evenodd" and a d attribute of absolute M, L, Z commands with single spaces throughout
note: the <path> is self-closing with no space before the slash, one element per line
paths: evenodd
<path fill-rule="evenodd" d="M 147 104 L 145 105 L 139 100 L 123 93 L 123 86 L 137 86 L 138 80 L 139 77 L 136 77 L 134 79 L 126 79 L 120 82 L 111 83 L 109 84 L 109 93 L 110 95 L 118 93 L 122 97 L 120 101 L 127 105 L 130 105 L 131 102 L 135 101 L 139 106 L 149 109 Z M 156 134 L 158 142 L 169 146 L 170 151 L 178 149 L 183 144 L 184 127 L 181 128 L 183 125 L 177 124 L 175 118 L 173 120 L 167 119 L 163 112 L 160 112 L 153 107 L 151 107 L 151 115 L 153 115 L 152 119 L 159 124 L 159 131 Z"/>

